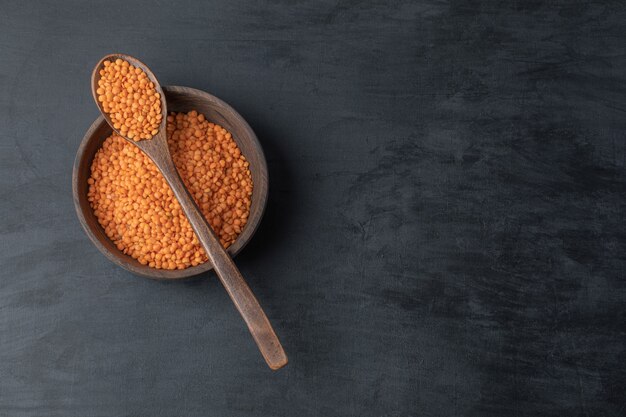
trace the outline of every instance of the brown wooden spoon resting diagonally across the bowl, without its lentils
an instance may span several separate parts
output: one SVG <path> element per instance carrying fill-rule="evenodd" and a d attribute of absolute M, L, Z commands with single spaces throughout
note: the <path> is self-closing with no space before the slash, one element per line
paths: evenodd
<path fill-rule="evenodd" d="M 113 127 L 113 123 L 109 115 L 104 112 L 102 104 L 98 101 L 98 94 L 96 93 L 96 90 L 98 89 L 100 70 L 104 68 L 104 61 L 109 60 L 113 62 L 118 58 L 127 61 L 134 67 L 141 68 L 146 73 L 150 81 L 154 83 L 156 91 L 161 95 L 161 125 L 159 126 L 158 133 L 154 135 L 152 139 L 144 139 L 135 142 L 134 140 L 124 136 L 120 131 Z M 102 58 L 100 62 L 98 62 L 98 65 L 96 65 L 93 73 L 91 74 L 91 92 L 98 108 L 100 109 L 100 112 L 111 128 L 119 136 L 137 146 L 146 155 L 148 155 L 159 171 L 161 171 L 161 174 L 163 174 L 163 177 L 174 192 L 174 195 L 180 203 L 187 219 L 189 219 L 191 227 L 196 232 L 198 240 L 202 244 L 202 247 L 204 247 L 209 260 L 213 264 L 213 268 L 215 269 L 217 276 L 220 278 L 220 281 L 222 281 L 228 295 L 230 295 L 230 298 L 233 300 L 233 303 L 235 303 L 237 310 L 239 310 L 239 313 L 248 325 L 248 329 L 250 330 L 250 333 L 252 333 L 252 337 L 254 338 L 269 367 L 276 370 L 285 366 L 287 364 L 287 355 L 285 354 L 276 333 L 274 333 L 272 325 L 259 305 L 259 302 L 254 297 L 252 290 L 250 290 L 250 287 L 241 276 L 241 273 L 237 269 L 237 266 L 235 266 L 235 263 L 231 259 L 230 255 L 226 253 L 226 250 L 222 247 L 219 239 L 213 233 L 213 229 L 211 229 L 211 226 L 209 226 L 202 216 L 200 209 L 189 194 L 189 191 L 187 191 L 187 188 L 185 187 L 185 184 L 180 178 L 176 166 L 172 161 L 172 157 L 167 146 L 167 103 L 165 102 L 165 95 L 163 94 L 163 90 L 161 90 L 161 85 L 152 71 L 150 71 L 145 64 L 132 56 L 123 54 L 107 55 Z"/>

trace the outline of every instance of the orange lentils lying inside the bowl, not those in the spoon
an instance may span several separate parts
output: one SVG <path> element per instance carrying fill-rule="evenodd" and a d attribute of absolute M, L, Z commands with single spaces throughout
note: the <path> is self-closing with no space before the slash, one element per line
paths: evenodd
<path fill-rule="evenodd" d="M 227 248 L 250 214 L 249 162 L 232 135 L 196 111 L 167 117 L 172 159 L 187 189 Z M 142 265 L 185 269 L 207 261 L 189 221 L 154 163 L 113 134 L 96 153 L 88 200 L 117 248 Z"/>

